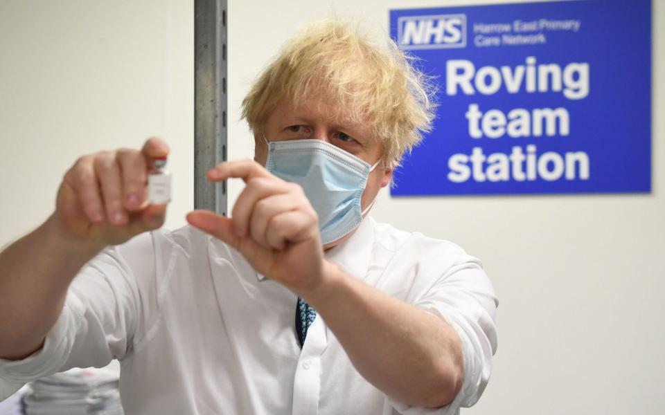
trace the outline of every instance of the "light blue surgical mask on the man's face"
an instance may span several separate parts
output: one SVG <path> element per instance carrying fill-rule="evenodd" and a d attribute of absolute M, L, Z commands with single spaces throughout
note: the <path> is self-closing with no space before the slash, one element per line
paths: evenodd
<path fill-rule="evenodd" d="M 362 222 L 371 208 L 360 209 L 360 197 L 374 165 L 323 140 L 268 142 L 265 168 L 275 176 L 303 187 L 319 215 L 321 243 L 344 237 Z"/>

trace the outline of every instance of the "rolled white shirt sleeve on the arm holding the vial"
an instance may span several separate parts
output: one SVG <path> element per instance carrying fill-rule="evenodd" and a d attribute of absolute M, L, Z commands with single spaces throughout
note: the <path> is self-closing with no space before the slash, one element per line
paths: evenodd
<path fill-rule="evenodd" d="M 141 236 L 105 250 L 80 270 L 42 349 L 22 360 L 0 359 L 0 400 L 31 380 L 72 367 L 104 367 L 125 356 L 143 326 L 136 274 L 153 272 L 150 241 Z"/>

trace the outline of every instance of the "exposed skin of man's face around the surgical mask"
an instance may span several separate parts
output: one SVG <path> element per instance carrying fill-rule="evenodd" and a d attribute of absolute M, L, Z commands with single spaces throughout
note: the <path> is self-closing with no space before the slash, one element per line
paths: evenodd
<path fill-rule="evenodd" d="M 296 108 L 287 100 L 278 102 L 276 109 L 269 114 L 263 131 L 254 133 L 256 148 L 254 160 L 265 166 L 268 156 L 267 145 L 263 141 L 263 134 L 269 142 L 285 140 L 317 139 L 329 142 L 369 165 L 374 165 L 382 156 L 382 146 L 373 138 L 369 122 L 339 123 L 331 115 L 338 111 L 333 105 L 321 100 L 308 100 L 301 107 Z M 390 183 L 391 169 L 379 164 L 370 174 L 367 185 L 360 199 L 361 209 L 364 210 L 375 199 L 381 187 Z M 341 243 L 351 237 L 346 237 L 326 244 L 323 248 Z"/>

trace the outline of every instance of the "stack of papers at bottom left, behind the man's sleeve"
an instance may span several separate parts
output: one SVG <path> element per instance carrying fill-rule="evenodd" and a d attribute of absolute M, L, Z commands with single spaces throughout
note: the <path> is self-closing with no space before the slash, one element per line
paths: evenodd
<path fill-rule="evenodd" d="M 70 369 L 30 383 L 26 415 L 123 415 L 118 374 L 105 369 Z"/>

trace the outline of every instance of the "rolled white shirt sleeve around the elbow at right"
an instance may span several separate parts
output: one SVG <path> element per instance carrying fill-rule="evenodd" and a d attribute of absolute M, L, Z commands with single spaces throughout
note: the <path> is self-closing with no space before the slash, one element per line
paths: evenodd
<path fill-rule="evenodd" d="M 490 378 L 492 356 L 497 349 L 498 305 L 492 284 L 481 262 L 463 252 L 443 268 L 447 270 L 433 285 L 419 290 L 421 294 L 414 305 L 440 317 L 459 336 L 464 359 L 463 385 L 451 403 L 436 409 L 411 407 L 389 398 L 400 414 L 458 414 L 460 407 L 471 407 L 477 402 Z"/>

